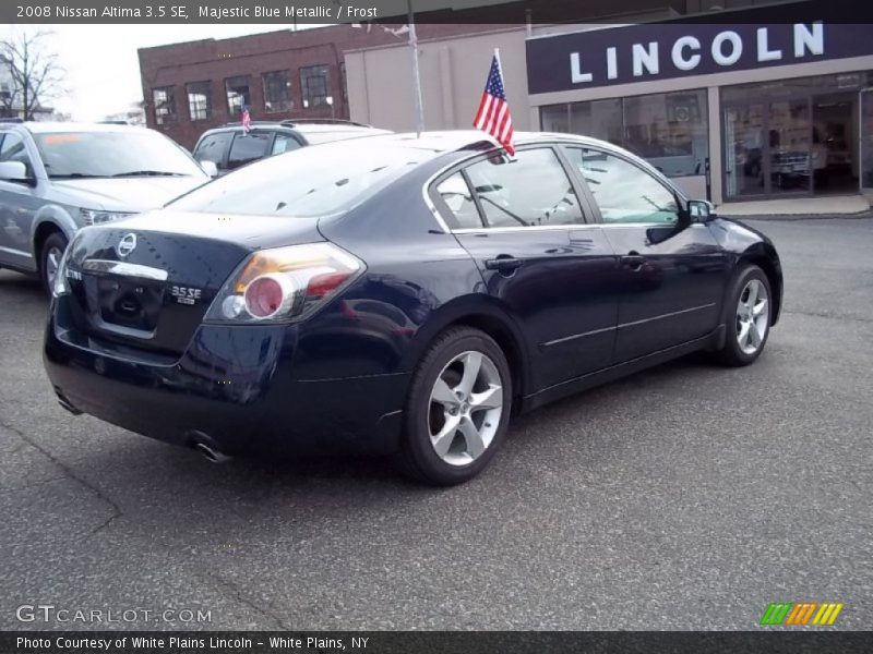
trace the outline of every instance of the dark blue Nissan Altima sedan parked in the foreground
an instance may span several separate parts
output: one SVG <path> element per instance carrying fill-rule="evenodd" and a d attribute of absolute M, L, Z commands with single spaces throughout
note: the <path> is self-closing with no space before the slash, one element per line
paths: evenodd
<path fill-rule="evenodd" d="M 45 363 L 61 404 L 243 455 L 485 468 L 511 414 L 779 317 L 773 243 L 607 143 L 392 134 L 253 164 L 83 229 Z"/>

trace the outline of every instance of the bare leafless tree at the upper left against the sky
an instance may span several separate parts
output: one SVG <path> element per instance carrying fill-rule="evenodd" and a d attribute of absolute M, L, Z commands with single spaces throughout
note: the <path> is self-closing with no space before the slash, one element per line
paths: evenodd
<path fill-rule="evenodd" d="M 0 94 L 4 113 L 34 120 L 45 102 L 63 93 L 64 70 L 49 48 L 50 32 L 21 32 L 0 40 L 0 65 L 9 76 L 9 93 Z"/>

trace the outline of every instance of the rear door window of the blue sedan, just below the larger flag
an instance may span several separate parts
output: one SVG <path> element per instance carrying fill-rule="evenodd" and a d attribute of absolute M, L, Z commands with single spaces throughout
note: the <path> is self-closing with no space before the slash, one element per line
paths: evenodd
<path fill-rule="evenodd" d="M 487 227 L 579 225 L 585 220 L 564 167 L 551 148 L 519 150 L 467 168 Z"/>

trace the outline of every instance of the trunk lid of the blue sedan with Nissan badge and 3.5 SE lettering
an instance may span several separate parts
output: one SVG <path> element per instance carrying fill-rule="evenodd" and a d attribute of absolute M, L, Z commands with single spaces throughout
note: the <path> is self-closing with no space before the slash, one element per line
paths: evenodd
<path fill-rule="evenodd" d="M 84 229 L 67 270 L 75 327 L 103 341 L 179 354 L 249 254 L 323 241 L 316 226 L 316 218 L 165 210 Z"/>

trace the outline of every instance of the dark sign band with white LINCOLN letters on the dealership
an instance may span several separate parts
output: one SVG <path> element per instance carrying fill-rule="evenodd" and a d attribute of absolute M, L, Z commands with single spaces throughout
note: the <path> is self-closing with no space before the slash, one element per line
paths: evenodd
<path fill-rule="evenodd" d="M 528 93 L 577 90 L 873 53 L 870 25 L 643 24 L 533 37 Z"/>

